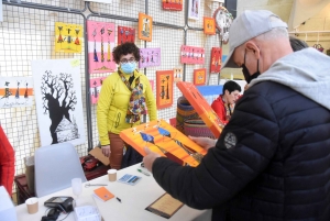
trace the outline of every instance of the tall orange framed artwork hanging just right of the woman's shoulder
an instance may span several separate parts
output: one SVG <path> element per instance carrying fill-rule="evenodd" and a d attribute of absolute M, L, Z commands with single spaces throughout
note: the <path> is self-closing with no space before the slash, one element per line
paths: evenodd
<path fill-rule="evenodd" d="M 157 108 L 168 108 L 173 104 L 173 70 L 156 71 Z"/>

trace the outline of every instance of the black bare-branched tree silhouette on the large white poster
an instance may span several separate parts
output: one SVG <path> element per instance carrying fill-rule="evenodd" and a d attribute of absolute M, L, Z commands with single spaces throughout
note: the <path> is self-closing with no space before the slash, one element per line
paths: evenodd
<path fill-rule="evenodd" d="M 61 73 L 57 76 L 46 70 L 41 79 L 41 93 L 44 114 L 48 114 L 52 121 L 52 144 L 78 139 L 76 120 L 74 114 L 70 117 L 70 111 L 75 111 L 77 104 L 72 74 Z"/>

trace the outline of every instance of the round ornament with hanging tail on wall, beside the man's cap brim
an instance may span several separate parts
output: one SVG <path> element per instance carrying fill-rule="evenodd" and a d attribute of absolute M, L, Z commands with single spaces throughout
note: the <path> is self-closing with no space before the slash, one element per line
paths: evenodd
<path fill-rule="evenodd" d="M 224 7 L 219 7 L 215 11 L 213 18 L 216 26 L 220 32 L 220 40 L 223 44 L 227 44 L 229 41 L 229 27 L 233 21 L 233 16 Z"/>

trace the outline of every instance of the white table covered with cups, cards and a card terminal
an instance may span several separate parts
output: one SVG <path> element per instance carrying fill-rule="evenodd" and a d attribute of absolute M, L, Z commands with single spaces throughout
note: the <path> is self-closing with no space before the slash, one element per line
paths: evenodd
<path fill-rule="evenodd" d="M 142 179 L 135 185 L 130 186 L 127 184 L 121 184 L 119 181 L 111 183 L 108 180 L 108 175 L 90 180 L 90 184 L 107 184 L 106 186 L 109 191 L 111 191 L 116 197 L 121 199 L 119 202 L 117 199 L 112 198 L 106 202 L 100 199 L 92 197 L 94 189 L 99 188 L 98 186 L 82 187 L 82 194 L 79 196 L 78 206 L 94 205 L 97 206 L 105 221 L 139 221 L 139 220 L 167 220 L 160 216 L 156 216 L 145 208 L 154 202 L 158 197 L 161 197 L 165 191 L 158 186 L 153 176 L 145 176 L 138 172 L 140 164 L 133 165 L 131 167 L 121 169 L 117 174 L 117 179 L 125 174 L 136 175 L 142 177 Z M 44 206 L 44 201 L 55 196 L 70 196 L 74 197 L 72 188 L 67 188 L 52 195 L 41 197 L 38 199 L 38 212 L 34 214 L 29 214 L 25 203 L 22 203 L 16 209 L 18 220 L 35 220 L 38 221 L 45 216 L 47 208 Z M 61 214 L 58 220 L 63 219 L 65 214 Z M 65 221 L 74 221 L 74 213 L 72 212 Z M 196 210 L 187 206 L 183 206 L 170 219 L 177 221 L 185 220 L 200 220 L 207 221 L 211 220 L 211 210 Z"/>

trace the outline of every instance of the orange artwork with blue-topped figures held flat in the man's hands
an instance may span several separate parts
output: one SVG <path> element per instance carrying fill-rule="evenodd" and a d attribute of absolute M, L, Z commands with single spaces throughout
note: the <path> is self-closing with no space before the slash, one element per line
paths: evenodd
<path fill-rule="evenodd" d="M 180 165 L 198 166 L 207 153 L 177 129 L 164 120 L 154 120 L 120 132 L 120 137 L 141 155 L 145 156 L 144 147 Z"/>

